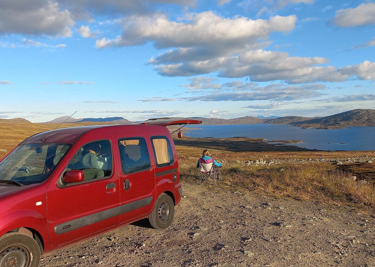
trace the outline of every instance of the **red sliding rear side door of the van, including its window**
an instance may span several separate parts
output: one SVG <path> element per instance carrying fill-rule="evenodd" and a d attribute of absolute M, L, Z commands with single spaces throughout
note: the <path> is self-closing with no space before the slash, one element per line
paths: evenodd
<path fill-rule="evenodd" d="M 120 176 L 120 223 L 147 216 L 155 202 L 154 165 L 144 132 L 115 133 Z"/>

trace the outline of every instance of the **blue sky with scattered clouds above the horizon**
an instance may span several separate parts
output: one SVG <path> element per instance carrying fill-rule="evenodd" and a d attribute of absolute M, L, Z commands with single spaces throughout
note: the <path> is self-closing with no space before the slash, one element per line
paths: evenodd
<path fill-rule="evenodd" d="M 0 118 L 375 109 L 373 0 L 1 0 Z"/>

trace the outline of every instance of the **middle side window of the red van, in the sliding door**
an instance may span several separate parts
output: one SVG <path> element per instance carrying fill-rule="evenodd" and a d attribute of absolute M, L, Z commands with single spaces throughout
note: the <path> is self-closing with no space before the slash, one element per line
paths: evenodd
<path fill-rule="evenodd" d="M 151 168 L 147 143 L 143 137 L 118 139 L 118 150 L 124 174 L 146 171 Z"/>

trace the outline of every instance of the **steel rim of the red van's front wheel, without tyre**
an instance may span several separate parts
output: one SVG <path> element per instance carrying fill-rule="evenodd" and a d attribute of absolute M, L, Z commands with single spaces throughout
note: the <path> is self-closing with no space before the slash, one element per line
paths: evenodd
<path fill-rule="evenodd" d="M 33 254 L 28 246 L 15 243 L 0 252 L 0 267 L 30 267 Z"/>

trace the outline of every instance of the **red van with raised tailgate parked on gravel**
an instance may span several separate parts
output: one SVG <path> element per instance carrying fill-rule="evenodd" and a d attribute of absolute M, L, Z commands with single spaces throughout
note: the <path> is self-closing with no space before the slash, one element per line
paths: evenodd
<path fill-rule="evenodd" d="M 40 255 L 148 217 L 172 223 L 181 200 L 168 125 L 57 129 L 30 136 L 0 161 L 0 267 L 36 267 Z"/>

